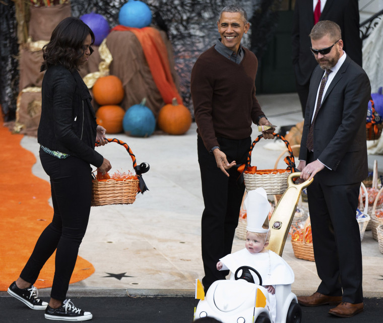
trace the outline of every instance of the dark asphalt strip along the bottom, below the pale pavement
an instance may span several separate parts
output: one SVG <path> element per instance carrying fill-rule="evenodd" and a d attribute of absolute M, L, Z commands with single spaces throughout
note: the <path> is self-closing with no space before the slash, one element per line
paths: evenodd
<path fill-rule="evenodd" d="M 195 300 L 193 297 L 80 297 L 75 305 L 92 312 L 92 323 L 192 323 Z M 333 307 L 301 306 L 302 323 L 379 323 L 383 299 L 365 298 L 364 311 L 347 319 L 328 314 Z M 50 321 L 44 318 L 44 311 L 31 310 L 13 297 L 0 295 L 0 312 L 2 323 Z"/>

